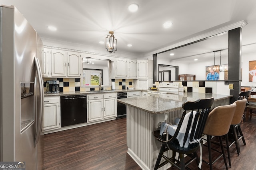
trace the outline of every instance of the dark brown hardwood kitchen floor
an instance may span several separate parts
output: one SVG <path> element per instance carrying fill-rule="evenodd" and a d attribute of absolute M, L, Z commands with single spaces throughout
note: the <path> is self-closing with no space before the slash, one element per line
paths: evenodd
<path fill-rule="evenodd" d="M 256 170 L 256 117 L 244 121 L 241 128 L 246 145 L 239 141 L 240 156 L 235 145 L 230 148 L 232 167 L 229 169 Z M 127 154 L 126 118 L 46 134 L 44 139 L 44 170 L 141 169 Z M 207 148 L 203 147 L 203 159 L 207 158 Z M 196 170 L 196 164 L 190 168 Z M 203 163 L 202 168 L 208 170 L 209 166 Z M 223 158 L 214 164 L 214 169 L 225 169 Z"/>

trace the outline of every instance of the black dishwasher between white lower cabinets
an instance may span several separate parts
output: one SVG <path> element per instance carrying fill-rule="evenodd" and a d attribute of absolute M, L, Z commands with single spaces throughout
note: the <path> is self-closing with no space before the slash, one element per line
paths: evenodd
<path fill-rule="evenodd" d="M 86 108 L 86 95 L 60 96 L 60 126 L 85 123 Z"/>

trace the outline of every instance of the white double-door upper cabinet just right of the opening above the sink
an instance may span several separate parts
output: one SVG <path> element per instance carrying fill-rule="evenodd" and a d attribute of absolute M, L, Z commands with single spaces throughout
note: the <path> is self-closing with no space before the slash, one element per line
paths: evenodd
<path fill-rule="evenodd" d="M 136 60 L 116 58 L 112 62 L 111 78 L 136 78 Z"/>

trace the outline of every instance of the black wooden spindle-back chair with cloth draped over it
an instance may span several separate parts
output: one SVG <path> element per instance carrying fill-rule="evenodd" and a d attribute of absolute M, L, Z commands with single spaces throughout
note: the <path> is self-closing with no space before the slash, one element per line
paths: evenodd
<path fill-rule="evenodd" d="M 166 129 L 166 135 L 160 134 L 161 129 L 153 132 L 154 137 L 162 143 L 154 170 L 167 163 L 181 170 L 185 170 L 194 160 L 196 160 L 198 169 L 200 169 L 202 152 L 200 153 L 200 158 L 198 158 L 197 150 L 200 148 L 200 151 L 202 151 L 200 139 L 213 102 L 214 98 L 197 100 L 195 102 L 185 101 L 182 104 L 184 111 L 177 127 L 172 125 L 166 126 L 168 127 Z M 172 150 L 171 157 L 166 156 L 168 153 L 166 151 L 168 150 Z M 176 152 L 179 155 L 178 159 L 176 158 Z M 184 155 L 190 158 L 186 162 Z M 161 162 L 162 158 L 164 158 L 164 161 Z"/>

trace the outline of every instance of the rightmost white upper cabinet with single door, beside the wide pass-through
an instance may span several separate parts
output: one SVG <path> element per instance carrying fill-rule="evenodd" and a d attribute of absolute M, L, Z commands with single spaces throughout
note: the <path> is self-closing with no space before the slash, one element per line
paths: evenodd
<path fill-rule="evenodd" d="M 151 79 L 153 77 L 153 61 L 137 60 L 137 78 Z"/>

